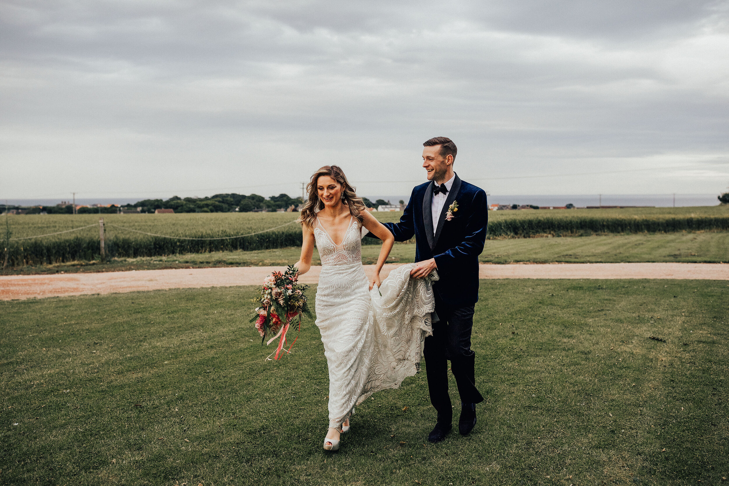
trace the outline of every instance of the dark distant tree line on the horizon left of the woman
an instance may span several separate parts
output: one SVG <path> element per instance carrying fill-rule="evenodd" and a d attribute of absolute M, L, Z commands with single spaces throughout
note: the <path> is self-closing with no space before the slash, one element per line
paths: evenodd
<path fill-rule="evenodd" d="M 135 204 L 122 206 L 125 209 L 141 207 L 141 212 L 155 212 L 155 209 L 174 209 L 175 212 L 251 212 L 276 211 L 301 204 L 301 198 L 291 198 L 288 194 L 270 196 L 266 199 L 258 194 L 216 194 L 205 198 L 181 198 L 172 196 L 162 199 L 144 199 Z"/>

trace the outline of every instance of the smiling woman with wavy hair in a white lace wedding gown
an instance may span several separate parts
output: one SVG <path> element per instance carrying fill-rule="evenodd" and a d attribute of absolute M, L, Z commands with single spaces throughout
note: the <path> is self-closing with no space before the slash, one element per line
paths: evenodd
<path fill-rule="evenodd" d="M 299 274 L 311 268 L 314 244 L 321 274 L 316 290 L 316 325 L 329 368 L 329 430 L 325 450 L 338 450 L 354 406 L 378 390 L 399 387 L 418 371 L 421 343 L 432 334 L 432 281 L 411 279 L 414 263 L 380 271 L 394 236 L 367 211 L 342 169 L 324 166 L 311 176 Z M 362 266 L 361 240 L 370 231 L 383 241 L 370 279 Z"/>

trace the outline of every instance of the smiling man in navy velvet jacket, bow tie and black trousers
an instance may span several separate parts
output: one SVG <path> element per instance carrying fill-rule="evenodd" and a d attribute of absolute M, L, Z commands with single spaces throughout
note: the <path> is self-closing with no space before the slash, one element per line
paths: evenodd
<path fill-rule="evenodd" d="M 475 427 L 476 404 L 483 401 L 475 385 L 471 329 L 488 205 L 483 189 L 453 172 L 458 149 L 451 139 L 437 136 L 423 145 L 423 167 L 429 182 L 413 189 L 399 223 L 384 225 L 397 242 L 416 237 L 418 265 L 410 272 L 411 277 L 427 277 L 434 269 L 440 277 L 433 285 L 435 312 L 440 320 L 433 323 L 433 335 L 426 337 L 424 349 L 430 401 L 438 413 L 428 440 L 439 442 L 451 431 L 453 418 L 448 360 L 461 396 L 458 425 L 462 435 Z"/>

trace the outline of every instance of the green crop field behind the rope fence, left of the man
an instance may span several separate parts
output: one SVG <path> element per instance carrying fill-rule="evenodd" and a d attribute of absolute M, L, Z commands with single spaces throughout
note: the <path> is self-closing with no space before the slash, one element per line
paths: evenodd
<path fill-rule="evenodd" d="M 399 214 L 378 213 L 383 220 L 397 220 Z M 105 250 L 109 257 L 134 258 L 224 250 L 264 250 L 301 244 L 301 228 L 295 223 L 298 213 L 192 213 L 179 215 L 102 215 L 105 223 Z M 24 238 L 81 229 L 43 238 L 10 241 L 11 266 L 91 261 L 99 258 L 98 215 L 12 215 L 7 217 L 11 238 Z M 3 222 L 4 223 L 4 222 Z M 290 223 L 290 224 L 286 224 Z M 284 225 L 281 228 L 278 226 Z M 233 239 L 214 239 L 249 235 Z M 135 231 L 174 239 L 150 236 Z M 4 236 L 4 234 L 3 234 Z M 376 243 L 374 240 L 367 242 Z"/>

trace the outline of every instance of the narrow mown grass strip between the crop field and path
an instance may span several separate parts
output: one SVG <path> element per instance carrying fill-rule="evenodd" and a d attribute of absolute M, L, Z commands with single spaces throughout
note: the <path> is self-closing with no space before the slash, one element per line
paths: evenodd
<path fill-rule="evenodd" d="M 24 266 L 7 269 L 6 274 L 55 274 L 61 271 L 122 271 L 149 269 L 187 269 L 212 266 L 283 266 L 295 263 L 300 248 L 279 248 L 252 252 L 210 252 L 149 258 L 114 258 L 109 263 L 96 261 Z M 362 246 L 362 262 L 377 263 L 379 245 Z M 415 260 L 414 244 L 395 244 L 388 258 L 391 263 Z M 729 261 L 729 233 L 609 234 L 574 238 L 488 239 L 480 261 L 487 263 L 569 262 L 619 263 L 676 261 L 719 263 Z M 319 265 L 314 250 L 313 264 Z"/>

